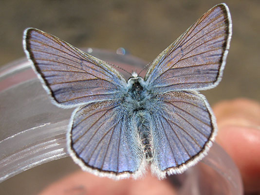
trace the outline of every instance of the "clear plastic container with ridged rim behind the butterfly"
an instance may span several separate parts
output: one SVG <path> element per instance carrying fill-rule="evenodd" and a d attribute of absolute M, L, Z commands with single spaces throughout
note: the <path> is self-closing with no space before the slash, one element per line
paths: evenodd
<path fill-rule="evenodd" d="M 86 51 L 129 72 L 139 72 L 147 64 L 126 54 L 123 48 L 117 53 L 92 48 Z M 73 109 L 61 109 L 51 103 L 27 59 L 0 68 L 0 102 L 0 182 L 69 156 L 66 131 Z M 242 195 L 243 192 L 236 165 L 217 143 L 196 166 L 168 179 L 180 195 Z"/>

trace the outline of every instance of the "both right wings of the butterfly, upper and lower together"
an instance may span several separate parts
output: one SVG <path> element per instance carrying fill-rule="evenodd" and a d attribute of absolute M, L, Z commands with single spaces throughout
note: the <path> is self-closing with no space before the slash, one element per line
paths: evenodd
<path fill-rule="evenodd" d="M 184 172 L 206 155 L 217 133 L 211 108 L 195 90 L 221 80 L 231 39 L 231 18 L 225 4 L 205 13 L 163 51 L 145 76 L 157 94 L 160 109 L 151 114 L 154 156 L 152 172 Z"/>

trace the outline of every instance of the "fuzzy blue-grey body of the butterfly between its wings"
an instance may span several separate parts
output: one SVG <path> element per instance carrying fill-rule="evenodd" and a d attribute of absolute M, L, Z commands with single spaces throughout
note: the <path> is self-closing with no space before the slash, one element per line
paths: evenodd
<path fill-rule="evenodd" d="M 141 77 L 130 78 L 128 81 L 128 93 L 124 98 L 124 105 L 130 113 L 136 125 L 138 139 L 142 143 L 144 154 L 149 161 L 152 154 L 152 139 L 149 124 L 149 104 L 151 94 L 146 88 L 146 83 Z"/>

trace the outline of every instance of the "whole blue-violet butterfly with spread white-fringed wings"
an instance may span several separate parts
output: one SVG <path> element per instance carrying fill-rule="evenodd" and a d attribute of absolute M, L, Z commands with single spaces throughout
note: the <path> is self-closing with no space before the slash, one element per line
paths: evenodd
<path fill-rule="evenodd" d="M 67 148 L 84 171 L 137 178 L 150 165 L 165 178 L 181 174 L 208 152 L 217 133 L 214 114 L 198 91 L 217 86 L 232 34 L 218 4 L 154 59 L 144 78 L 127 81 L 109 63 L 35 28 L 24 31 L 24 51 L 61 108 L 76 107 Z"/>

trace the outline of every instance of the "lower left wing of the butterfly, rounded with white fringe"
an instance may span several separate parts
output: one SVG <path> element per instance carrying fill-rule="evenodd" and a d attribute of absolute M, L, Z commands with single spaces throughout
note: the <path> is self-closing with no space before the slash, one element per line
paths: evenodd
<path fill-rule="evenodd" d="M 72 115 L 70 128 L 68 149 L 83 170 L 115 179 L 139 176 L 144 170 L 137 130 L 120 101 L 79 107 Z"/>

